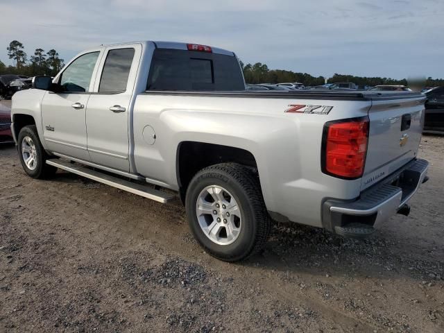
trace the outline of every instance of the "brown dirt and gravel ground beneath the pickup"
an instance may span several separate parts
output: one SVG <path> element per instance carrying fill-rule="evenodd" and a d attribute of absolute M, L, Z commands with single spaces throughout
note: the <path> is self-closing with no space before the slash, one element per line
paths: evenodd
<path fill-rule="evenodd" d="M 28 178 L 0 146 L 0 332 L 444 332 L 444 137 L 430 180 L 364 241 L 276 225 L 227 264 L 185 210 L 58 171 Z"/>

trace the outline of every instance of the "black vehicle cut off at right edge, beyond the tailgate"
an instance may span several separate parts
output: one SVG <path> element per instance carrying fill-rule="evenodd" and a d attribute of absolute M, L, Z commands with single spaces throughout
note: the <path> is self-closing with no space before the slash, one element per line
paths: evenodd
<path fill-rule="evenodd" d="M 425 93 L 424 131 L 444 134 L 444 87 L 437 87 Z"/>

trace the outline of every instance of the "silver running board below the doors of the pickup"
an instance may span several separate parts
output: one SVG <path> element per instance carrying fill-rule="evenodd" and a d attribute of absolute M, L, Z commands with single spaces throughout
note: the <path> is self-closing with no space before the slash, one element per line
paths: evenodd
<path fill-rule="evenodd" d="M 169 203 L 176 198 L 176 196 L 173 194 L 158 191 L 157 189 L 152 189 L 148 186 L 137 184 L 135 182 L 128 182 L 128 180 L 110 176 L 99 171 L 94 171 L 78 164 L 71 164 L 67 161 L 51 159 L 46 160 L 46 164 L 69 171 L 71 173 L 76 173 L 76 175 L 95 180 L 96 182 L 103 182 L 103 184 L 117 187 L 118 189 L 123 189 L 123 191 L 128 191 L 160 203 Z"/>

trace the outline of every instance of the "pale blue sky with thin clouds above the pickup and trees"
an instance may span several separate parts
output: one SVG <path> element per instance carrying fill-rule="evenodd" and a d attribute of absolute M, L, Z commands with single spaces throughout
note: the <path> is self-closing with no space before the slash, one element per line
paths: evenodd
<path fill-rule="evenodd" d="M 245 63 L 331 77 L 444 78 L 444 0 L 0 0 L 0 60 L 65 62 L 90 46 L 165 40 L 218 46 Z"/>

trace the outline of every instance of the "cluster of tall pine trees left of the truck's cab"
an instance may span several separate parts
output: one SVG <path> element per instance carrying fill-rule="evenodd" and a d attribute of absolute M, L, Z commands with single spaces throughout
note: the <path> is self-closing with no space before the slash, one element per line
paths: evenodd
<path fill-rule="evenodd" d="M 34 55 L 28 59 L 24 45 L 18 40 L 12 40 L 6 47 L 6 51 L 8 51 L 8 57 L 15 62 L 15 66 L 6 66 L 0 60 L 0 74 L 55 76 L 65 65 L 55 49 L 45 52 L 44 49 L 37 48 Z"/>

